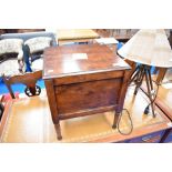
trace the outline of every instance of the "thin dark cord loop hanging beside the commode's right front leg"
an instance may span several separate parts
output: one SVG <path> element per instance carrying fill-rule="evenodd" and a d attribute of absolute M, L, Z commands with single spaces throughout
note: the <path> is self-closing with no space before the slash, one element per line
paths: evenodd
<path fill-rule="evenodd" d="M 122 114 L 123 114 L 122 112 L 123 111 L 127 111 L 127 113 L 129 115 L 129 121 L 131 123 L 131 129 L 130 129 L 130 131 L 128 133 L 122 132 L 121 129 L 120 129 L 120 122 L 121 122 L 121 119 L 122 119 Z M 117 129 L 118 129 L 118 131 L 119 131 L 120 134 L 122 134 L 122 135 L 129 135 L 133 131 L 133 123 L 132 123 L 132 120 L 131 120 L 130 112 L 127 109 L 123 109 L 122 112 L 121 112 L 121 114 L 119 117 L 119 120 L 117 122 Z"/>

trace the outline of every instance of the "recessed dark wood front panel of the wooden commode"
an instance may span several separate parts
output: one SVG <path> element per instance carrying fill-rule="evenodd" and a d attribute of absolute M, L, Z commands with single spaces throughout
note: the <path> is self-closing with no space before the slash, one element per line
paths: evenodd
<path fill-rule="evenodd" d="M 59 114 L 87 111 L 117 104 L 121 79 L 55 87 Z"/>

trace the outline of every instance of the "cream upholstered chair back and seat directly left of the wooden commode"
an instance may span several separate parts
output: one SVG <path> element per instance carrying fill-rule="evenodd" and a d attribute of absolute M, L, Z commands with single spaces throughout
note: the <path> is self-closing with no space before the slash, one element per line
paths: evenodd
<path fill-rule="evenodd" d="M 42 70 L 43 68 L 43 50 L 52 45 L 52 38 L 37 37 L 24 42 L 28 49 L 29 61 L 32 71 Z"/>

